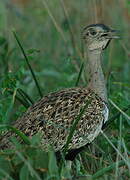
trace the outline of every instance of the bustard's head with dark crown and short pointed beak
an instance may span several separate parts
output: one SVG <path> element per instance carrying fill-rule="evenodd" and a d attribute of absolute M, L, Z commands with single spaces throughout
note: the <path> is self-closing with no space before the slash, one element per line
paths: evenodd
<path fill-rule="evenodd" d="M 83 29 L 83 39 L 89 50 L 104 50 L 111 39 L 119 38 L 116 33 L 104 24 L 92 24 Z"/>

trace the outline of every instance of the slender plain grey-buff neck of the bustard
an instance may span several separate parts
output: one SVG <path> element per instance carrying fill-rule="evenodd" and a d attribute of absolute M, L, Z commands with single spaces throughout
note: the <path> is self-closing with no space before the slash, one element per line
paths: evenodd
<path fill-rule="evenodd" d="M 104 74 L 101 67 L 101 50 L 87 51 L 87 60 L 89 64 L 89 85 L 99 97 L 107 102 L 107 90 Z"/>

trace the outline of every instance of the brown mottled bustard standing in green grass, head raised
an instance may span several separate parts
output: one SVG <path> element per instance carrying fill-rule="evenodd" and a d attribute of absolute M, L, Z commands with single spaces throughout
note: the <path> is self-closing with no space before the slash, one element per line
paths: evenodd
<path fill-rule="evenodd" d="M 41 132 L 43 149 L 47 150 L 51 145 L 56 152 L 62 151 L 73 121 L 86 101 L 91 100 L 76 126 L 68 150 L 78 151 L 91 143 L 100 133 L 103 123 L 108 120 L 107 92 L 101 68 L 101 55 L 114 38 L 118 38 L 115 31 L 104 24 L 85 27 L 83 39 L 90 70 L 88 86 L 64 89 L 43 97 L 14 123 L 14 127 L 29 137 Z M 12 132 L 5 134 L 0 143 L 1 149 L 10 147 L 8 138 L 12 135 Z"/>

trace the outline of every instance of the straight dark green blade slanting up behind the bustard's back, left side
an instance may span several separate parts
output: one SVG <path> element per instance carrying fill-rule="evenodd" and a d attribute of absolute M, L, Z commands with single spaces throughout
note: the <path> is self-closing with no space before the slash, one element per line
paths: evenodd
<path fill-rule="evenodd" d="M 21 49 L 21 51 L 22 51 L 22 53 L 23 53 L 23 56 L 24 56 L 24 58 L 25 58 L 25 61 L 26 61 L 27 65 L 28 65 L 28 68 L 29 68 L 29 70 L 30 70 L 30 72 L 31 72 L 31 74 L 32 74 L 32 77 L 33 77 L 33 79 L 34 79 L 34 82 L 35 82 L 35 84 L 36 84 L 36 87 L 37 87 L 37 90 L 38 90 L 38 92 L 39 92 L 39 95 L 40 95 L 40 97 L 42 98 L 42 92 L 41 92 L 40 86 L 39 86 L 39 84 L 38 84 L 38 81 L 37 81 L 37 79 L 36 79 L 36 76 L 35 76 L 35 74 L 34 74 L 34 71 L 33 71 L 32 67 L 31 67 L 31 65 L 29 64 L 29 60 L 28 60 L 28 57 L 27 57 L 27 55 L 26 55 L 26 53 L 25 53 L 25 50 L 24 50 L 21 42 L 19 41 L 18 36 L 17 36 L 17 34 L 16 34 L 15 31 L 13 31 L 13 35 L 14 35 L 14 37 L 15 37 L 15 39 L 16 39 L 16 41 L 17 41 L 17 43 L 18 43 L 18 45 L 19 45 L 19 47 L 20 47 L 20 49 Z"/>

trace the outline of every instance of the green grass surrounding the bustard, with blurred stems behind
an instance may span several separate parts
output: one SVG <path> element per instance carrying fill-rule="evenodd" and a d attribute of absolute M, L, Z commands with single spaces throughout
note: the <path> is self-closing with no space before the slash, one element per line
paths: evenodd
<path fill-rule="evenodd" d="M 71 169 L 65 161 L 57 162 L 51 148 L 48 153 L 41 150 L 38 134 L 29 141 L 30 145 L 21 145 L 11 138 L 15 149 L 0 151 L 0 179 L 129 180 L 128 0 L 118 2 L 119 6 L 117 1 L 109 1 L 108 5 L 107 1 L 33 0 L 24 10 L 8 4 L 11 8 L 6 11 L 7 3 L 0 2 L 0 12 L 3 12 L 0 17 L 0 129 L 12 129 L 5 124 L 15 121 L 42 95 L 85 86 L 82 27 L 98 19 L 122 30 L 123 38 L 111 42 L 104 53 L 110 121 L 94 142 L 76 157 Z M 15 29 L 15 37 L 11 29 Z M 75 122 L 80 120 L 78 118 Z M 28 141 L 21 132 L 12 130 Z"/>

